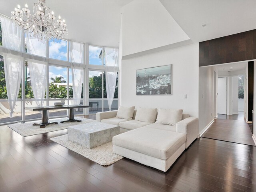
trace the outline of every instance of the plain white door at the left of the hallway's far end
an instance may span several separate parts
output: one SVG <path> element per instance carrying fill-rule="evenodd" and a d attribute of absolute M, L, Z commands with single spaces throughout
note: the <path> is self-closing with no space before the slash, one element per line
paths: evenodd
<path fill-rule="evenodd" d="M 218 78 L 218 97 L 217 97 L 218 114 L 227 114 L 227 78 Z"/>

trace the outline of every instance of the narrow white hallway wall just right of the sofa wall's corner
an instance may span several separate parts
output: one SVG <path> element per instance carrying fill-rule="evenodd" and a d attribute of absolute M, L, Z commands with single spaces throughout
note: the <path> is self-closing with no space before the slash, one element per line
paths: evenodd
<path fill-rule="evenodd" d="M 214 67 L 199 68 L 199 133 L 214 120 L 214 70 Z"/>

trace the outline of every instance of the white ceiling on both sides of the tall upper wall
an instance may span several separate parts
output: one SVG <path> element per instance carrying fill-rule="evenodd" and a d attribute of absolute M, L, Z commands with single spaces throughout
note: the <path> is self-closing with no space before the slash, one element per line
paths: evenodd
<path fill-rule="evenodd" d="M 46 0 L 66 20 L 66 39 L 92 45 L 118 46 L 122 6 L 132 0 Z M 0 13 L 10 17 L 17 4 L 30 10 L 38 0 L 0 0 Z M 148 1 L 145 1 L 147 3 Z M 194 42 L 256 29 L 255 0 L 160 0 Z M 203 28 L 202 25 L 206 24 Z"/>

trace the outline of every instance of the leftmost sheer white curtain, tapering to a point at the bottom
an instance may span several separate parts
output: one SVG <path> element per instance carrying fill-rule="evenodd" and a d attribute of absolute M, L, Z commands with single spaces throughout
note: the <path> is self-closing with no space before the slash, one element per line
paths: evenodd
<path fill-rule="evenodd" d="M 14 26 L 9 18 L 1 16 L 2 44 L 6 48 L 4 52 L 4 74 L 8 103 L 10 106 L 10 118 L 18 98 L 23 69 L 23 34 L 22 30 Z M 13 51 L 14 50 L 14 51 Z M 16 52 L 18 51 L 18 52 Z"/>

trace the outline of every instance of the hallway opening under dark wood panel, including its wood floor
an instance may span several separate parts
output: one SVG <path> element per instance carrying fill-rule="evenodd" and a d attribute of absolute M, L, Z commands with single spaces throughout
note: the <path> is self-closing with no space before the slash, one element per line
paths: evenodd
<path fill-rule="evenodd" d="M 214 122 L 202 137 L 255 146 L 246 114 L 247 64 L 240 62 L 215 66 L 212 77 L 207 77 L 214 82 L 213 87 L 209 88 L 209 91 L 213 89 L 214 95 Z"/>

